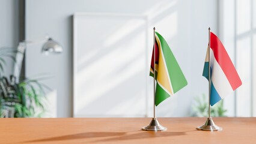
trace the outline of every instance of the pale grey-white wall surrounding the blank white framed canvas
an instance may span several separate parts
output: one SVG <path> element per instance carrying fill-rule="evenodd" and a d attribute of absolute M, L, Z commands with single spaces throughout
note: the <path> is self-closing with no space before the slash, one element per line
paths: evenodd
<path fill-rule="evenodd" d="M 218 34 L 217 5 L 215 0 L 27 0 L 26 39 L 37 40 L 49 34 L 64 47 L 64 52 L 46 57 L 40 54 L 40 45 L 31 46 L 26 50 L 26 76 L 52 74 L 53 78 L 44 83 L 56 94 L 56 116 L 72 116 L 72 15 L 75 12 L 144 14 L 148 16 L 150 30 L 156 26 L 168 41 L 188 82 L 184 89 L 157 106 L 157 116 L 189 116 L 193 97 L 207 94 L 207 80 L 201 74 L 209 26 Z"/>

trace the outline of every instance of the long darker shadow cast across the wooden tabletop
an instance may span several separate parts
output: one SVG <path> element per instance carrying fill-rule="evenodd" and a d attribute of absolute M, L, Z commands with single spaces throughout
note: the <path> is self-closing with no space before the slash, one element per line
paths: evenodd
<path fill-rule="evenodd" d="M 135 133 L 134 133 L 135 132 Z M 94 137 L 108 137 L 106 139 L 96 140 L 94 142 L 111 142 L 112 140 L 132 140 L 132 139 L 146 139 L 153 137 L 170 137 L 170 136 L 181 136 L 185 135 L 185 132 L 149 132 L 149 131 L 132 131 L 127 133 L 121 132 L 90 132 L 90 133 L 78 133 L 78 134 L 70 134 L 66 136 L 59 137 L 50 137 L 46 139 L 37 139 L 37 140 L 29 140 L 23 143 L 35 143 L 35 142 L 50 142 L 50 141 L 58 141 L 58 140 L 75 140 L 75 139 L 88 139 Z"/>

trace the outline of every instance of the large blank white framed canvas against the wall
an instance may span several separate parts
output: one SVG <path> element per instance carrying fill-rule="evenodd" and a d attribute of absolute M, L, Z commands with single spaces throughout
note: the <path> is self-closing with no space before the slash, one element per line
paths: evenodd
<path fill-rule="evenodd" d="M 147 37 L 144 16 L 74 15 L 74 117 L 147 114 Z"/>

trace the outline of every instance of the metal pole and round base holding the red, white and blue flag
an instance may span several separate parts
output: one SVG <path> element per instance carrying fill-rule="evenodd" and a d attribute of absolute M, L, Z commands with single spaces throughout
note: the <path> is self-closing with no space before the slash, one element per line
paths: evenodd
<path fill-rule="evenodd" d="M 211 77 L 211 61 L 210 61 L 210 48 L 211 48 L 211 29 L 209 28 L 209 47 L 207 49 L 207 53 L 208 53 L 208 60 L 209 60 L 209 107 L 208 107 L 208 118 L 206 120 L 206 122 L 204 123 L 204 125 L 201 125 L 200 127 L 197 127 L 197 130 L 204 130 L 204 131 L 221 131 L 222 128 L 219 127 L 218 125 L 216 125 L 213 122 L 213 119 L 211 117 L 211 86 L 212 86 L 212 77 Z"/>

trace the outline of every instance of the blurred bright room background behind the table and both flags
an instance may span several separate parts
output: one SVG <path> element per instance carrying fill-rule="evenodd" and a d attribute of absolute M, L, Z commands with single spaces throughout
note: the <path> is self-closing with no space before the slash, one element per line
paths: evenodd
<path fill-rule="evenodd" d="M 157 117 L 207 115 L 209 27 L 243 83 L 213 116 L 256 116 L 255 7 L 254 0 L 0 0 L 1 116 L 153 116 L 154 26 L 188 82 L 156 107 Z M 46 35 L 61 53 L 42 53 Z"/>

